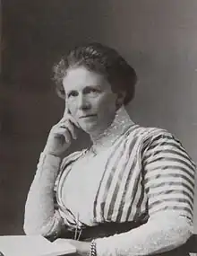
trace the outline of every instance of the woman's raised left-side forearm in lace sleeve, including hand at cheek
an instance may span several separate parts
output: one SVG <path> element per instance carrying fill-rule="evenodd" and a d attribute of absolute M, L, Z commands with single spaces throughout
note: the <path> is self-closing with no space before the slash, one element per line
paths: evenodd
<path fill-rule="evenodd" d="M 64 117 L 50 130 L 38 169 L 30 186 L 24 217 L 26 234 L 56 234 L 63 220 L 55 210 L 54 187 L 64 152 L 77 138 L 78 124 L 65 108 Z"/>

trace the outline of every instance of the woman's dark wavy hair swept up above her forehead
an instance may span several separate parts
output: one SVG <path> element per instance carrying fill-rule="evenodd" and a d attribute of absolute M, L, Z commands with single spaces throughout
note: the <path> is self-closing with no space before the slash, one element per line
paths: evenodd
<path fill-rule="evenodd" d="M 64 98 L 64 76 L 68 69 L 78 66 L 84 66 L 89 71 L 104 75 L 113 93 L 124 91 L 126 93 L 124 105 L 132 101 L 137 82 L 133 67 L 115 49 L 98 42 L 76 47 L 54 66 L 53 79 L 56 82 L 56 92 L 61 98 Z"/>

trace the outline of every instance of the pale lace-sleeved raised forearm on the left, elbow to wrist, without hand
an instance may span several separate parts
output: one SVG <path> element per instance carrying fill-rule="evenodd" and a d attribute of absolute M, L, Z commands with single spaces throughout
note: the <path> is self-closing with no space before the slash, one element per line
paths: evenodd
<path fill-rule="evenodd" d="M 25 205 L 25 234 L 54 234 L 61 226 L 61 216 L 54 207 L 54 186 L 61 158 L 40 154 L 38 169 Z"/>

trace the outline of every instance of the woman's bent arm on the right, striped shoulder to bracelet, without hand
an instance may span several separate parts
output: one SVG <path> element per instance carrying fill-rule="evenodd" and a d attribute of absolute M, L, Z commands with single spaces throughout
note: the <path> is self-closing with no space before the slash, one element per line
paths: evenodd
<path fill-rule="evenodd" d="M 193 161 L 169 134 L 151 137 L 143 151 L 150 218 L 124 234 L 96 240 L 99 256 L 147 255 L 184 244 L 193 233 Z"/>

